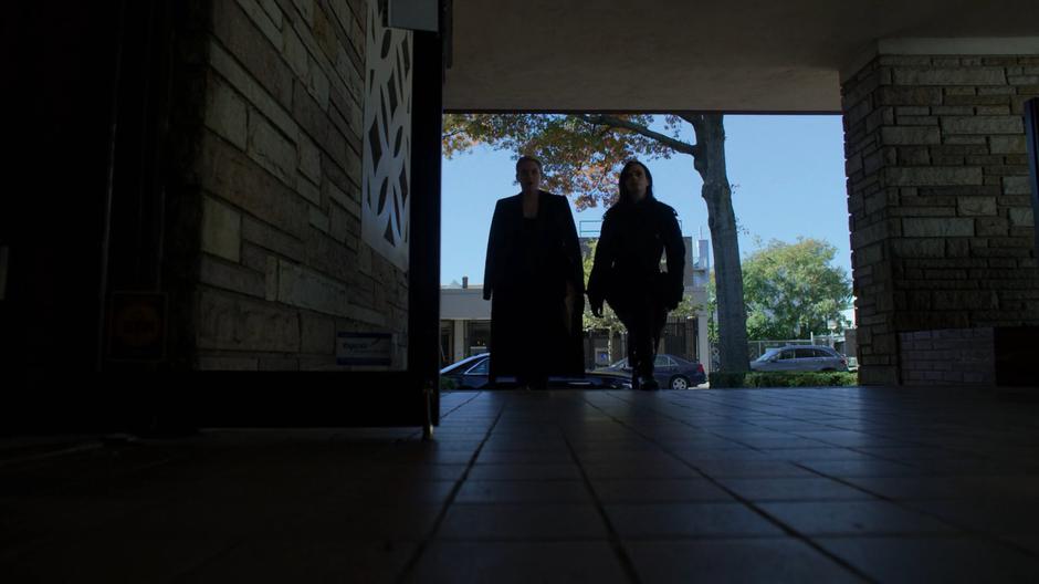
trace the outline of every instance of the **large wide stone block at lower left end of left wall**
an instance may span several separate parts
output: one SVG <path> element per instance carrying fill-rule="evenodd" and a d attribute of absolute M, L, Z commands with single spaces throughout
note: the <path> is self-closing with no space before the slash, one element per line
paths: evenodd
<path fill-rule="evenodd" d="M 203 289 L 199 294 L 199 348 L 224 351 L 300 350 L 300 321 L 295 311 L 262 301 Z"/>

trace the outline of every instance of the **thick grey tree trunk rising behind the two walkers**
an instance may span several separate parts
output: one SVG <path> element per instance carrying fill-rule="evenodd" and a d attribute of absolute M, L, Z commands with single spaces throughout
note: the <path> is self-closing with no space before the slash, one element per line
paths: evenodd
<path fill-rule="evenodd" d="M 707 225 L 714 248 L 714 274 L 718 311 L 721 371 L 749 368 L 747 310 L 743 301 L 743 269 L 732 188 L 725 173 L 725 129 L 722 114 L 685 117 L 696 132 L 694 166 L 703 178 L 702 195 L 707 202 Z"/>

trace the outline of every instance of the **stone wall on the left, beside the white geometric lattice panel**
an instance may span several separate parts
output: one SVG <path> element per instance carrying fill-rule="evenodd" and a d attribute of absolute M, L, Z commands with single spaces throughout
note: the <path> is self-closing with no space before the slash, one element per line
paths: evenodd
<path fill-rule="evenodd" d="M 213 0 L 197 188 L 195 366 L 329 369 L 395 333 L 407 279 L 361 241 L 364 0 Z"/>

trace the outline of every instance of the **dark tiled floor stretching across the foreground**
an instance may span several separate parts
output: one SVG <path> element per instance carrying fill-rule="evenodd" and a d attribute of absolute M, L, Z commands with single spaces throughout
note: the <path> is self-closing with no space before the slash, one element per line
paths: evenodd
<path fill-rule="evenodd" d="M 433 442 L 7 449 L 0 582 L 1039 582 L 1019 397 L 453 393 Z"/>

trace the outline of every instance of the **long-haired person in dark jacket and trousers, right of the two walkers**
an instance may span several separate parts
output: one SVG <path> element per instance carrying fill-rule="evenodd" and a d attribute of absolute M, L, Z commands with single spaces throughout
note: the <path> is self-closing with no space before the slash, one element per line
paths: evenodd
<path fill-rule="evenodd" d="M 653 361 L 668 311 L 682 301 L 685 244 L 674 209 L 653 197 L 653 176 L 646 165 L 626 164 L 618 189 L 617 202 L 602 217 L 588 301 L 596 316 L 602 314 L 602 301 L 609 302 L 628 328 L 632 387 L 658 389 Z M 664 250 L 668 271 L 661 273 Z"/>

